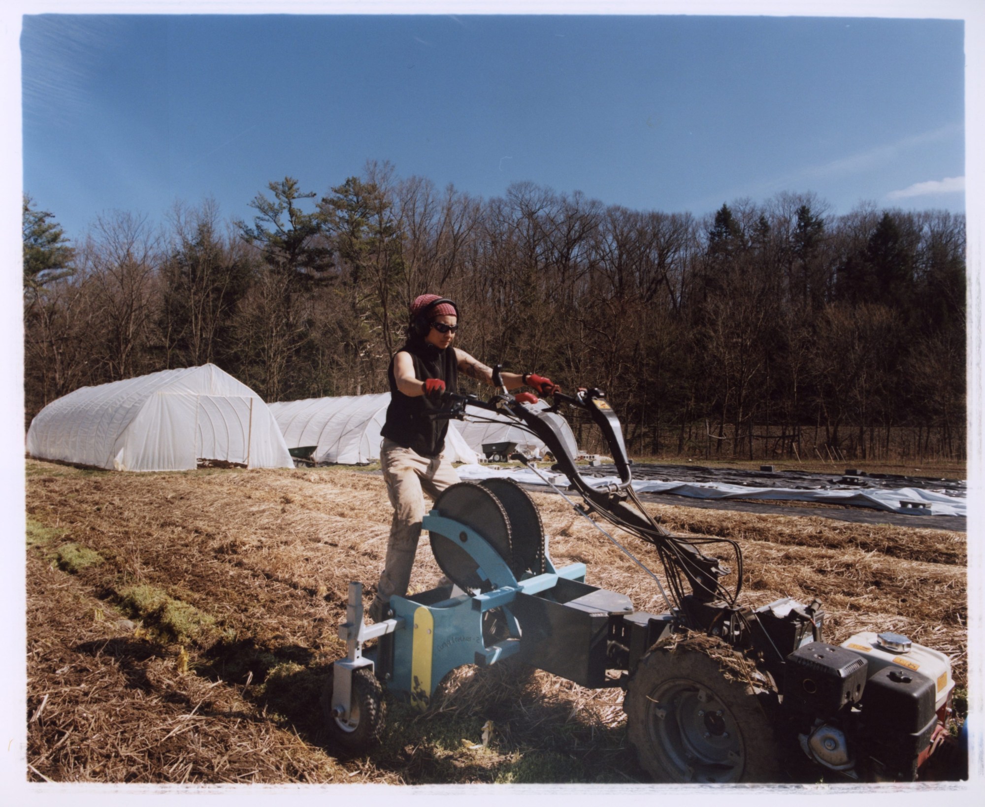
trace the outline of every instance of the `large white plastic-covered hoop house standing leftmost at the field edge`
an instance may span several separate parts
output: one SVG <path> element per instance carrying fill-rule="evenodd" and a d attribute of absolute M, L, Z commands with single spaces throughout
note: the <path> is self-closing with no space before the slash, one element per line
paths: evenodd
<path fill-rule="evenodd" d="M 294 467 L 267 404 L 214 364 L 82 387 L 52 401 L 31 423 L 28 452 L 112 470 L 189 470 L 199 459 Z"/>

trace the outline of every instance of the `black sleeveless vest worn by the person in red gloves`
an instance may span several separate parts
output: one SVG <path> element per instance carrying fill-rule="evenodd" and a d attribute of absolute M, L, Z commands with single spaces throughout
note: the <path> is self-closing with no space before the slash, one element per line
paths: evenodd
<path fill-rule="evenodd" d="M 414 375 L 418 379 L 426 381 L 428 378 L 439 378 L 444 382 L 446 392 L 458 392 L 458 361 L 454 347 L 441 350 L 427 341 L 411 339 L 400 349 L 411 354 Z M 428 410 L 441 408 L 439 403 L 431 403 L 425 396 L 411 398 L 397 389 L 393 374 L 395 361 L 396 356 L 390 360 L 390 368 L 387 370 L 387 377 L 390 379 L 390 405 L 387 406 L 386 422 L 380 429 L 380 434 L 405 449 L 413 449 L 422 457 L 437 457 L 444 450 L 448 421 L 425 415 Z"/>

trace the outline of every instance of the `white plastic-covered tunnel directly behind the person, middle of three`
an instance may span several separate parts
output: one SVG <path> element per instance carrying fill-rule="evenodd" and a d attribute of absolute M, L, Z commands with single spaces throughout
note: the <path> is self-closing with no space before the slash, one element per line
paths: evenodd
<path fill-rule="evenodd" d="M 304 401 L 271 403 L 270 410 L 281 427 L 289 448 L 316 446 L 315 463 L 358 466 L 379 459 L 390 394 L 309 398 Z M 445 457 L 452 463 L 475 463 L 476 453 L 448 424 Z"/>

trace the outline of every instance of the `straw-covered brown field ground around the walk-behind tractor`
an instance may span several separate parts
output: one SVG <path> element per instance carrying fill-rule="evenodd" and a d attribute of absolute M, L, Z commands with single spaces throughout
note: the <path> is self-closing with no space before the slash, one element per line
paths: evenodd
<path fill-rule="evenodd" d="M 366 601 L 386 551 L 382 477 L 341 467 L 112 473 L 29 461 L 28 714 L 33 780 L 646 780 L 622 694 L 511 663 L 465 667 L 427 714 L 388 699 L 383 742 L 337 758 L 318 695 L 348 583 Z M 558 496 L 533 494 L 559 564 L 664 610 L 659 592 Z M 963 533 L 654 505 L 727 535 L 746 601 L 821 598 L 826 638 L 894 630 L 966 674 Z M 645 548 L 634 546 L 642 557 Z M 422 540 L 413 585 L 439 576 Z M 483 727 L 492 721 L 488 745 Z"/>

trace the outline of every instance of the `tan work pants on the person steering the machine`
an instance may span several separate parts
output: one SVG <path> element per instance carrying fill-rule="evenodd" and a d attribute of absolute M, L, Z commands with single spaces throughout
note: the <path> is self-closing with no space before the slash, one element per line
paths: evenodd
<path fill-rule="evenodd" d="M 455 468 L 444 459 L 444 454 L 432 459 L 422 457 L 413 449 L 398 446 L 389 438 L 383 438 L 379 462 L 383 467 L 386 492 L 393 505 L 393 522 L 383 574 L 380 575 L 376 597 L 369 609 L 369 615 L 375 621 L 383 618 L 391 596 L 407 593 L 414 555 L 421 538 L 421 522 L 425 517 L 424 494 L 436 499 L 446 487 L 461 481 Z"/>

